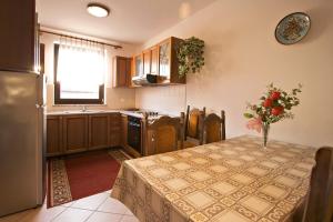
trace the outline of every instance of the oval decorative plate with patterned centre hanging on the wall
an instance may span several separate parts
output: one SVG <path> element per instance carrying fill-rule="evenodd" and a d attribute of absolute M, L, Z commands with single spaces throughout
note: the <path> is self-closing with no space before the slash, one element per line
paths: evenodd
<path fill-rule="evenodd" d="M 310 17 L 295 12 L 284 17 L 275 29 L 275 38 L 282 44 L 293 44 L 301 41 L 311 27 Z"/>

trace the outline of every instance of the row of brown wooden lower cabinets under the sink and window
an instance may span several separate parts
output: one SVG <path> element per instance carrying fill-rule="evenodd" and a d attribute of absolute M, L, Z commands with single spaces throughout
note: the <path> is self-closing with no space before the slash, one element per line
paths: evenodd
<path fill-rule="evenodd" d="M 121 145 L 120 113 L 49 115 L 47 154 Z"/>

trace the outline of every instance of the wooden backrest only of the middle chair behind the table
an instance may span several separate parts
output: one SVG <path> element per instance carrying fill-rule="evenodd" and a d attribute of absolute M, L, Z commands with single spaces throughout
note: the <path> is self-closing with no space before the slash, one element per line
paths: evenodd
<path fill-rule="evenodd" d="M 203 110 L 199 110 L 196 108 L 190 110 L 190 105 L 188 105 L 186 118 L 185 118 L 185 140 L 188 137 L 200 139 L 200 115 L 205 115 L 205 108 Z"/>

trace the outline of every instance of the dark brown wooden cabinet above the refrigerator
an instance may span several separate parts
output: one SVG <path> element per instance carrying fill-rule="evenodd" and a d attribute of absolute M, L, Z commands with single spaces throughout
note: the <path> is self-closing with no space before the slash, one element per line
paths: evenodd
<path fill-rule="evenodd" d="M 39 36 L 34 0 L 1 0 L 0 30 L 0 70 L 38 72 Z"/>

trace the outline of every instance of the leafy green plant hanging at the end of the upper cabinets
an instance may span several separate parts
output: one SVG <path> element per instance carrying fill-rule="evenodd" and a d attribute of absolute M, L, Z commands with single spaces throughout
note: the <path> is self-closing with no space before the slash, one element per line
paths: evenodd
<path fill-rule="evenodd" d="M 203 58 L 204 41 L 195 37 L 185 39 L 180 43 L 178 50 L 179 74 L 181 77 L 188 73 L 200 72 L 204 65 Z"/>

